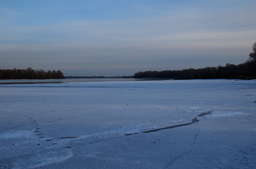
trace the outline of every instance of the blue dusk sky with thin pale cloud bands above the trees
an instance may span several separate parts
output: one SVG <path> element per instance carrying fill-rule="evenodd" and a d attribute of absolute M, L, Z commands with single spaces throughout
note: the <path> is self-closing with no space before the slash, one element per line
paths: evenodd
<path fill-rule="evenodd" d="M 134 75 L 239 64 L 255 0 L 0 0 L 0 68 Z"/>

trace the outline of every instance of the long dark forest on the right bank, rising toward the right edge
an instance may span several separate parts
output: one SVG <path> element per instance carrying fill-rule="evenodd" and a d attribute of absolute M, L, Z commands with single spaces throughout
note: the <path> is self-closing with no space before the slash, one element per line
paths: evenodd
<path fill-rule="evenodd" d="M 145 71 L 134 74 L 134 78 L 141 79 L 256 79 L 256 42 L 252 45 L 253 52 L 250 53 L 248 61 L 233 65 L 227 63 L 225 66 L 207 67 L 199 69 L 184 70 L 163 70 L 163 71 Z"/>

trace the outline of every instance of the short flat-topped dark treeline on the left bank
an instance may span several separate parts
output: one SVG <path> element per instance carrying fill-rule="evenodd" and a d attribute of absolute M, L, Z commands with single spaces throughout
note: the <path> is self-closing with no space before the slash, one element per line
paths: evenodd
<path fill-rule="evenodd" d="M 0 69 L 0 79 L 64 79 L 64 75 L 61 70 L 33 70 L 27 69 Z"/>

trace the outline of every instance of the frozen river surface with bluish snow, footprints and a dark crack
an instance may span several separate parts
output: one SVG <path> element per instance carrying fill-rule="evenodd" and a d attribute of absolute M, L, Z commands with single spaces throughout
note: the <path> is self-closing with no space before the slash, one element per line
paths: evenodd
<path fill-rule="evenodd" d="M 256 81 L 1 84 L 0 168 L 256 168 Z"/>

